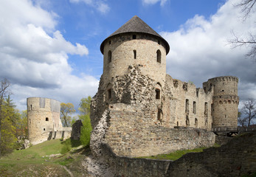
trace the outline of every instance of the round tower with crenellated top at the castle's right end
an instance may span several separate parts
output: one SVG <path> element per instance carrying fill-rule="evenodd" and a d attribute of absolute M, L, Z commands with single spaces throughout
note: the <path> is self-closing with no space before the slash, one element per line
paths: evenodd
<path fill-rule="evenodd" d="M 203 83 L 204 91 L 213 89 L 212 128 L 238 126 L 238 77 L 214 77 Z"/>

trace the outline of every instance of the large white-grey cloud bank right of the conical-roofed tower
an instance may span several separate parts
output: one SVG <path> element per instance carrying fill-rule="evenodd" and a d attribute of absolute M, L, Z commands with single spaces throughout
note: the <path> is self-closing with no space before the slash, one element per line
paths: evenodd
<path fill-rule="evenodd" d="M 237 1 L 238 2 L 238 1 Z M 235 1 L 226 1 L 217 13 L 209 19 L 201 15 L 187 20 L 175 32 L 161 32 L 170 44 L 167 55 L 167 72 L 172 77 L 193 81 L 196 86 L 211 77 L 234 75 L 239 80 L 239 96 L 256 98 L 256 63 L 246 59 L 246 48 L 235 48 L 228 44 L 234 36 L 232 30 L 241 36 L 256 31 L 256 13 L 247 21 L 241 20 Z"/>

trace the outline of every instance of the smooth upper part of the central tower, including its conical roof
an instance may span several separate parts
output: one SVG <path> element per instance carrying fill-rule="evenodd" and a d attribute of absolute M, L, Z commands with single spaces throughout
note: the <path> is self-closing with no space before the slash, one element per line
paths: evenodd
<path fill-rule="evenodd" d="M 111 83 L 112 77 L 128 74 L 129 66 L 139 65 L 143 75 L 164 86 L 169 50 L 167 41 L 135 15 L 100 45 L 104 83 Z"/>

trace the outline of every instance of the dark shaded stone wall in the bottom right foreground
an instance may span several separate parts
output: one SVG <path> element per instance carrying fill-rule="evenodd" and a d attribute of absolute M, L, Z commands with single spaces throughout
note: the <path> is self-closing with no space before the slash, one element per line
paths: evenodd
<path fill-rule="evenodd" d="M 256 132 L 232 139 L 226 145 L 211 147 L 202 153 L 187 153 L 176 161 L 136 159 L 117 156 L 102 145 L 105 162 L 112 176 L 122 177 L 198 177 L 244 176 L 256 172 Z"/>

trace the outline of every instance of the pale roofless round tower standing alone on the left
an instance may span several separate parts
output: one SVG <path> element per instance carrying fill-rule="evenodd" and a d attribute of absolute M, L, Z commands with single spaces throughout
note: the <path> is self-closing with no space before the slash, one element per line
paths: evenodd
<path fill-rule="evenodd" d="M 60 102 L 42 97 L 27 98 L 27 124 L 33 145 L 46 141 L 52 136 L 52 131 L 62 128 Z"/>

